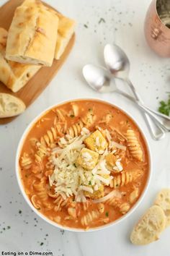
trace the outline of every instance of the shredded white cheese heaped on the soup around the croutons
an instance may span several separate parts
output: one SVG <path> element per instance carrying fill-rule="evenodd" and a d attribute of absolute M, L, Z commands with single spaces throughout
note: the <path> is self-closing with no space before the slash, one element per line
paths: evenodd
<path fill-rule="evenodd" d="M 107 169 L 105 157 L 109 151 L 102 150 L 97 165 L 88 171 L 77 163 L 77 158 L 82 148 L 85 148 L 84 139 L 90 134 L 89 130 L 83 128 L 79 137 L 66 135 L 58 142 L 58 147 L 53 148 L 49 162 L 53 164 L 54 171 L 49 176 L 50 187 L 54 186 L 55 193 L 66 199 L 75 196 L 76 202 L 86 202 L 84 191 L 93 193 L 99 190 L 101 185 L 109 185 L 113 176 Z M 96 142 L 99 142 L 97 137 Z M 92 156 L 89 153 L 82 154 L 86 164 L 91 164 Z M 121 170 L 121 159 L 117 159 L 115 170 Z"/>

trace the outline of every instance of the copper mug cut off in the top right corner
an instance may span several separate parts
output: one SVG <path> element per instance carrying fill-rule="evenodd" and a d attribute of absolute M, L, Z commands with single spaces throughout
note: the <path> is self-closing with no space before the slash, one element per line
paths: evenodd
<path fill-rule="evenodd" d="M 170 57 L 170 1 L 153 0 L 146 14 L 148 45 L 159 56 Z"/>

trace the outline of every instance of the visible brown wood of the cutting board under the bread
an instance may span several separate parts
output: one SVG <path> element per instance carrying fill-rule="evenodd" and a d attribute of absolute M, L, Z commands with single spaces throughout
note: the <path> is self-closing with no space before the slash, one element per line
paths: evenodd
<path fill-rule="evenodd" d="M 10 0 L 7 1 L 0 8 L 0 27 L 4 27 L 6 30 L 9 30 L 11 25 L 12 18 L 14 16 L 15 9 L 22 4 L 23 0 Z M 46 4 L 47 5 L 47 4 Z M 64 51 L 61 59 L 58 61 L 54 60 L 52 67 L 42 67 L 37 74 L 35 74 L 32 79 L 27 82 L 27 85 L 24 86 L 19 92 L 12 93 L 11 90 L 6 88 L 6 86 L 0 82 L 0 93 L 10 93 L 24 101 L 26 106 L 29 106 L 35 99 L 42 93 L 43 90 L 49 85 L 50 81 L 53 79 L 55 74 L 63 65 L 64 61 L 68 57 L 68 54 L 71 51 L 75 41 L 75 34 L 71 38 L 66 50 Z M 12 121 L 15 117 L 0 119 L 0 124 L 7 124 Z"/>

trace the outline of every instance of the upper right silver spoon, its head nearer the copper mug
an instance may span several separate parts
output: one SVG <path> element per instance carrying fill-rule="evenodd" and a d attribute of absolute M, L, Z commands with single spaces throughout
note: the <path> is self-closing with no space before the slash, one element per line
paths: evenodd
<path fill-rule="evenodd" d="M 132 82 L 128 78 L 128 74 L 130 71 L 130 61 L 128 59 L 128 56 L 126 56 L 125 52 L 122 51 L 122 49 L 115 44 L 114 45 L 107 44 L 104 47 L 104 61 L 107 68 L 109 69 L 109 72 L 111 72 L 111 74 L 113 74 L 114 77 L 117 77 L 117 78 L 120 78 L 121 80 L 126 81 L 130 86 L 131 90 L 133 91 L 133 94 L 136 100 L 138 101 L 138 103 L 143 103 L 137 91 L 135 90 L 135 87 L 133 86 Z M 157 111 L 153 111 L 151 108 L 148 108 L 148 110 L 154 112 L 154 114 L 159 116 L 160 117 L 159 121 L 161 122 L 161 126 L 165 127 L 166 130 L 170 131 L 169 116 L 165 116 Z M 145 116 L 148 121 L 147 115 Z"/>

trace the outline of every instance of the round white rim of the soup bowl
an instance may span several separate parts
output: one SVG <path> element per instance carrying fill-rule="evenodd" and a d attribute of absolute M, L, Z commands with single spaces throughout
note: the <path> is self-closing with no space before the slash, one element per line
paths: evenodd
<path fill-rule="evenodd" d="M 124 112 L 127 116 L 130 117 L 130 119 L 133 120 L 133 122 L 136 124 L 136 126 L 138 127 L 138 129 L 140 130 L 141 134 L 143 135 L 143 139 L 145 140 L 146 142 L 146 148 L 148 150 L 148 161 L 149 161 L 149 173 L 148 173 L 148 179 L 147 179 L 147 182 L 146 182 L 146 187 L 143 189 L 143 192 L 142 192 L 142 195 L 140 195 L 140 198 L 138 199 L 138 201 L 135 203 L 135 205 L 133 205 L 133 207 L 129 210 L 128 213 L 126 213 L 124 216 L 122 216 L 121 218 L 118 218 L 116 221 L 113 221 L 111 223 L 108 223 L 104 226 L 99 226 L 97 228 L 92 228 L 92 229 L 88 229 L 87 231 L 85 231 L 84 229 L 75 229 L 75 228 L 69 228 L 67 226 L 62 226 L 58 223 L 55 223 L 54 221 L 51 221 L 49 218 L 45 217 L 44 215 L 42 215 L 42 213 L 39 212 L 39 210 L 37 210 L 33 205 L 32 203 L 30 202 L 29 198 L 27 197 L 26 193 L 24 192 L 24 187 L 23 187 L 23 184 L 22 184 L 22 181 L 21 181 L 21 178 L 20 178 L 20 175 L 19 175 L 19 155 L 20 155 L 20 152 L 22 150 L 22 145 L 23 145 L 23 142 L 24 142 L 24 139 L 25 137 L 27 137 L 27 134 L 28 132 L 30 132 L 30 129 L 32 128 L 32 126 L 36 123 L 36 121 L 38 121 L 42 116 L 45 115 L 46 112 L 48 112 L 51 108 L 54 108 L 56 106 L 60 106 L 60 105 L 63 105 L 64 103 L 68 103 L 68 102 L 72 102 L 72 101 L 99 101 L 99 102 L 102 102 L 102 103 L 107 103 L 109 104 L 110 106 L 115 106 L 116 108 L 119 108 L 120 111 Z M 116 104 L 112 104 L 112 103 L 109 103 L 107 101 L 101 101 L 97 98 L 79 98 L 79 99 L 73 99 L 71 101 L 63 101 L 61 103 L 58 103 L 56 105 L 53 105 L 53 106 L 50 106 L 49 108 L 45 109 L 45 111 L 42 111 L 42 113 L 40 115 L 38 115 L 37 117 L 35 117 L 35 119 L 33 119 L 33 121 L 28 125 L 27 129 L 25 129 L 20 141 L 19 141 L 19 145 L 18 145 L 18 148 L 17 148 L 17 155 L 16 155 L 16 161 L 15 161 L 15 168 L 16 168 L 16 174 L 17 174 L 17 182 L 19 184 L 19 188 L 21 189 L 21 192 L 22 192 L 22 195 L 24 197 L 24 199 L 26 200 L 27 204 L 30 206 L 30 208 L 37 214 L 37 216 L 40 216 L 40 218 L 42 218 L 44 221 L 50 223 L 51 225 L 59 228 L 59 229 L 65 229 L 67 231 L 74 231 L 74 232 L 89 232 L 89 231 L 98 231 L 98 230 L 102 230 L 102 229 L 106 229 L 107 227 L 110 227 L 110 226 L 115 226 L 115 224 L 117 223 L 120 223 L 122 222 L 123 220 L 125 220 L 125 218 L 128 218 L 128 216 L 130 216 L 133 211 L 138 207 L 138 205 L 140 205 L 140 202 L 143 200 L 143 197 L 146 195 L 146 192 L 148 190 L 148 186 L 149 186 L 149 183 L 151 181 L 151 170 L 152 170 L 152 161 L 151 161 L 151 149 L 148 145 L 148 141 L 146 139 L 146 136 L 143 134 L 143 131 L 142 129 L 140 128 L 140 125 L 138 124 L 137 121 L 134 120 L 133 116 L 131 114 L 128 114 L 124 109 L 120 108 L 119 106 L 117 106 Z"/>

